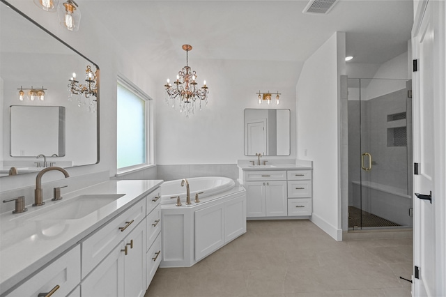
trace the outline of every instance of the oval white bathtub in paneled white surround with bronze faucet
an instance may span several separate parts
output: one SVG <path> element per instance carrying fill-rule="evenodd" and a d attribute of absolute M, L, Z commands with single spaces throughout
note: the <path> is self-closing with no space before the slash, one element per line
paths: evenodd
<path fill-rule="evenodd" d="M 160 187 L 162 261 L 160 267 L 190 267 L 246 233 L 246 190 L 231 178 L 187 178 L 167 181 Z M 199 203 L 194 202 L 196 193 Z M 181 206 L 176 206 L 176 197 Z M 171 197 L 175 197 L 171 199 Z"/>

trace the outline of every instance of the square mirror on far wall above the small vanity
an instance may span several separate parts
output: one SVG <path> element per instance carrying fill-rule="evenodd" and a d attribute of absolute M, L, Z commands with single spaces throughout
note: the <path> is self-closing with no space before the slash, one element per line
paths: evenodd
<path fill-rule="evenodd" d="M 245 109 L 245 155 L 290 155 L 290 110 Z"/>

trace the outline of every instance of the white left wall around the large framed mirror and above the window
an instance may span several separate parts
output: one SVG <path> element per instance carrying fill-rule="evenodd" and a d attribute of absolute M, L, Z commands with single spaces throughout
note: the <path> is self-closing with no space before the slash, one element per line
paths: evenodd
<path fill-rule="evenodd" d="M 116 79 L 121 73 L 128 77 L 140 89 L 155 98 L 155 84 L 148 77 L 138 61 L 126 54 L 116 43 L 114 36 L 102 24 L 95 22 L 94 15 L 88 10 L 82 10 L 80 29 L 70 32 L 59 25 L 56 13 L 47 13 L 38 9 L 33 1 L 11 0 L 10 3 L 29 15 L 33 20 L 100 67 L 100 163 L 68 169 L 70 176 L 89 174 L 92 172 L 109 171 L 109 176 L 116 174 Z M 153 105 L 156 105 L 153 102 Z M 45 177 L 45 182 L 52 176 Z M 60 176 L 56 176 L 56 179 Z M 22 188 L 36 182 L 35 174 L 0 178 L 2 191 Z"/>

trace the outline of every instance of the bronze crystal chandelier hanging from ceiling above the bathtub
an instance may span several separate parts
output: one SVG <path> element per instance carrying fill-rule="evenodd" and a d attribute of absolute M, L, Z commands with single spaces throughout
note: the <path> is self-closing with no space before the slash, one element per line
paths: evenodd
<path fill-rule="evenodd" d="M 176 75 L 175 86 L 170 84 L 170 79 L 167 79 L 167 84 L 164 84 L 166 93 L 167 105 L 171 105 L 176 109 L 177 101 L 180 107 L 180 112 L 189 118 L 189 114 L 195 114 L 195 102 L 198 100 L 199 109 L 201 110 L 201 100 L 205 100 L 208 105 L 208 87 L 206 86 L 206 80 L 203 82 L 201 88 L 197 87 L 197 73 L 192 71 L 189 67 L 188 52 L 192 50 L 192 46 L 183 45 L 183 50 L 186 51 L 186 66 L 183 67 Z"/>

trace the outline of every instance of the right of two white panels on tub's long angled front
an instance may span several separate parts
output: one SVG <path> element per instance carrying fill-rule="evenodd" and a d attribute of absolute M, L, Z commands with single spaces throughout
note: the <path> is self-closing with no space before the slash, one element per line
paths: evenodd
<path fill-rule="evenodd" d="M 246 196 L 224 202 L 224 243 L 246 233 Z"/>

